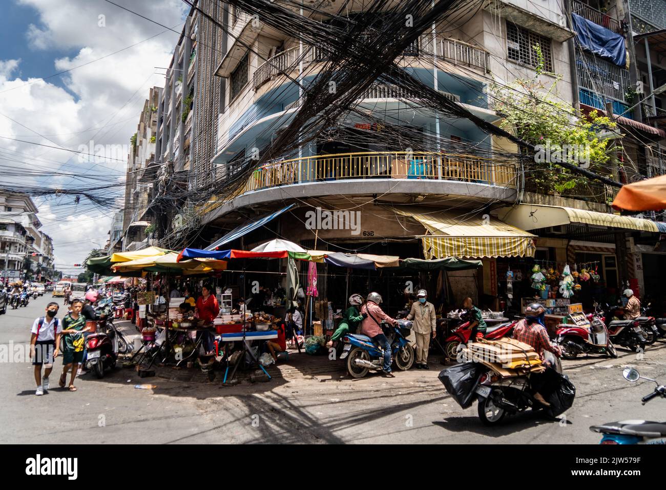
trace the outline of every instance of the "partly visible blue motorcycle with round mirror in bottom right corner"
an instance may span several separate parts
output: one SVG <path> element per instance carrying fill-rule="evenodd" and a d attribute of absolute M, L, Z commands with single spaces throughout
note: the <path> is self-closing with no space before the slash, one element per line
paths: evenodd
<path fill-rule="evenodd" d="M 626 367 L 622 375 L 632 383 L 639 379 L 654 381 L 657 387 L 649 395 L 641 399 L 643 405 L 653 398 L 666 399 L 666 386 L 659 385 L 654 379 L 643 377 L 633 367 Z M 666 444 L 666 422 L 652 422 L 647 420 L 625 420 L 609 422 L 603 425 L 593 425 L 592 432 L 603 434 L 599 444 Z"/>

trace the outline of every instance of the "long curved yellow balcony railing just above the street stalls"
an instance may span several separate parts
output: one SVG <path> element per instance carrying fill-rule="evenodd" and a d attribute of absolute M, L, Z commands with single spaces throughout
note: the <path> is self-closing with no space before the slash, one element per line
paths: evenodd
<path fill-rule="evenodd" d="M 515 188 L 513 163 L 473 155 L 381 151 L 316 155 L 257 169 L 239 195 L 268 187 L 347 179 L 442 179 Z"/>

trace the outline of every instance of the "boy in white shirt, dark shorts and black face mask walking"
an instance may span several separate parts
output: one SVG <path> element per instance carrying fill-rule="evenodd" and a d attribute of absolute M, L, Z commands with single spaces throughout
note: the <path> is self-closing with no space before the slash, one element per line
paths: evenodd
<path fill-rule="evenodd" d="M 30 337 L 30 355 L 35 366 L 35 382 L 37 391 L 35 395 L 43 395 L 44 390 L 49 391 L 49 375 L 53 370 L 53 359 L 58 357 L 60 350 L 60 337 L 63 328 L 55 317 L 58 314 L 58 303 L 49 303 L 46 307 L 46 316 L 35 319 L 32 335 Z M 41 367 L 44 365 L 44 377 L 41 377 Z"/>

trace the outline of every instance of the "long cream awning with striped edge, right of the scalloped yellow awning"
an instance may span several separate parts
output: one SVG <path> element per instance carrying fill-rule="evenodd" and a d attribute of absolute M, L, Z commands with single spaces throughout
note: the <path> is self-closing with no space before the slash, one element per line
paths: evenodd
<path fill-rule="evenodd" d="M 506 223 L 533 230 L 549 226 L 583 223 L 609 228 L 622 228 L 659 233 L 657 223 L 649 219 L 620 216 L 611 213 L 599 213 L 573 207 L 546 206 L 541 204 L 519 204 L 497 210 L 498 217 Z"/>

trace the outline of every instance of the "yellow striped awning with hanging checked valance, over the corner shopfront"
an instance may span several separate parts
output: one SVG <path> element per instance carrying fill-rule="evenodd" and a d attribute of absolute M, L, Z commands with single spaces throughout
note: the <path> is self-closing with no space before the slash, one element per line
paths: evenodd
<path fill-rule="evenodd" d="M 428 208 L 394 209 L 416 219 L 428 233 L 421 237 L 426 259 L 444 257 L 533 257 L 535 235 L 495 217 Z"/>

